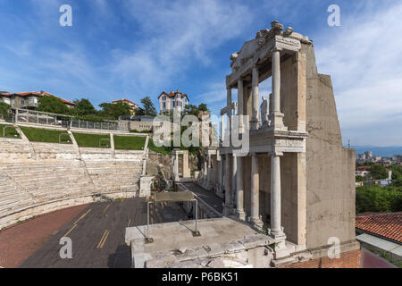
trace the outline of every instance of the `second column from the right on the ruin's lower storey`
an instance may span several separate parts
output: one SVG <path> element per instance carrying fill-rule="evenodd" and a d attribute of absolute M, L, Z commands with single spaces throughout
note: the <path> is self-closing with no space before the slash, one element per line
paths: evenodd
<path fill-rule="evenodd" d="M 255 227 L 262 228 L 263 221 L 260 218 L 259 204 L 259 174 L 258 174 L 258 157 L 255 153 L 251 155 L 251 216 L 250 221 Z"/>

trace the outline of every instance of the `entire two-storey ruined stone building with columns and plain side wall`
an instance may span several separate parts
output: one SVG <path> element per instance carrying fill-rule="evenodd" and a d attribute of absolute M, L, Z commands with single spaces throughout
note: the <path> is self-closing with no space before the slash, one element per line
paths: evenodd
<path fill-rule="evenodd" d="M 222 146 L 205 153 L 205 185 L 224 193 L 224 214 L 316 257 L 334 241 L 340 252 L 358 248 L 355 151 L 342 146 L 331 77 L 317 71 L 313 41 L 273 21 L 230 59 L 221 114 L 248 115 L 250 132 L 247 156 Z M 267 99 L 258 87 L 269 78 Z M 278 245 L 278 257 L 288 256 Z"/>

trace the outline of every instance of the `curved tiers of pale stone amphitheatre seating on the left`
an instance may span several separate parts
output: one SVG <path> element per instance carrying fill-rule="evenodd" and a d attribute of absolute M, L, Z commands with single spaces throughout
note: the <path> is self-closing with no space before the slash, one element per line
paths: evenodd
<path fill-rule="evenodd" d="M 68 206 L 138 195 L 143 151 L 0 139 L 0 228 Z"/>

